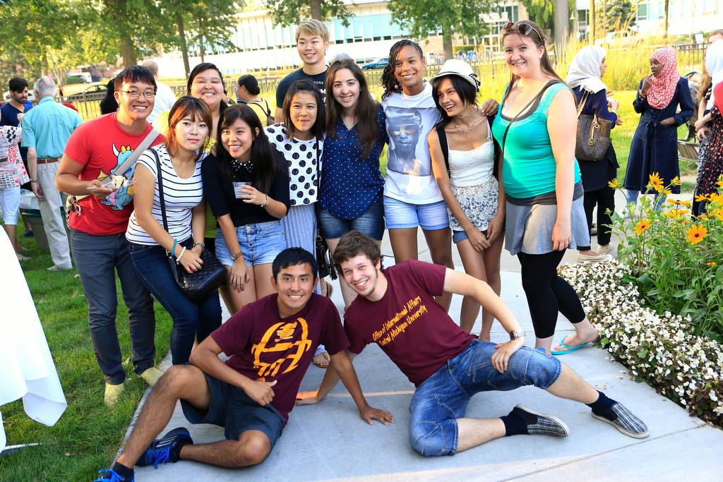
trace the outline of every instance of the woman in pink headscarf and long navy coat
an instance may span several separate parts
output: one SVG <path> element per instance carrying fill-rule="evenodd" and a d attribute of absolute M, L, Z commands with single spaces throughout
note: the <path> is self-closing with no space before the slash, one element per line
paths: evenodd
<path fill-rule="evenodd" d="M 677 155 L 677 127 L 693 115 L 693 98 L 688 80 L 680 77 L 672 47 L 659 48 L 650 57 L 651 74 L 640 81 L 633 108 L 640 113 L 633 135 L 625 172 L 628 204 L 635 204 L 638 194 L 648 190 L 649 176 L 659 173 L 664 186 L 680 176 Z M 676 113 L 680 106 L 680 112 Z M 671 186 L 680 193 L 680 186 Z M 660 197 L 662 202 L 664 197 Z"/>

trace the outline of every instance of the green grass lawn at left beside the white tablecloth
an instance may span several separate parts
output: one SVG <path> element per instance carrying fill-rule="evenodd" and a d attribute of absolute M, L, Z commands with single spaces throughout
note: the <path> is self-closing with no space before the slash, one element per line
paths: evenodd
<path fill-rule="evenodd" d="M 22 226 L 18 226 L 22 233 Z M 40 251 L 33 238 L 21 238 L 33 259 L 23 263 L 68 408 L 53 427 L 30 420 L 22 400 L 3 405 L 7 444 L 41 443 L 0 456 L 0 481 L 91 481 L 96 471 L 108 468 L 145 390 L 145 382 L 132 372 L 128 314 L 122 301 L 117 326 L 127 371 L 126 390 L 114 408 L 103 404 L 103 375 L 95 363 L 87 324 L 87 304 L 75 270 L 47 272 L 50 254 Z M 120 285 L 118 298 L 122 300 Z M 12 312 L 5 307 L 5 313 Z M 171 318 L 155 304 L 156 361 L 168 352 Z"/>

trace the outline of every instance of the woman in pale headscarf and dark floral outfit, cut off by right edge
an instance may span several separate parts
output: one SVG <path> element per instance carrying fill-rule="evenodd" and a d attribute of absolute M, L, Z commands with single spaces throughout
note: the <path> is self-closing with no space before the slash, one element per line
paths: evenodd
<path fill-rule="evenodd" d="M 721 129 L 723 129 L 723 119 L 721 119 L 721 113 L 715 106 L 719 103 L 720 96 L 716 96 L 714 87 L 716 85 L 723 84 L 723 30 L 716 30 L 711 33 L 709 38 L 714 40 L 706 49 L 705 53 L 705 72 L 709 75 L 707 77 L 707 85 L 701 85 L 701 92 L 705 90 L 705 97 L 701 99 L 701 106 L 705 106 L 705 111 L 701 119 L 696 122 L 697 137 L 698 137 L 698 179 L 696 181 L 696 195 L 697 194 L 708 194 L 714 190 L 714 185 L 717 181 L 717 176 L 711 178 L 711 173 L 715 171 L 714 165 L 723 162 L 720 158 L 720 152 L 711 152 L 711 141 L 716 138 L 716 143 L 719 143 L 719 137 L 722 136 Z M 703 79 L 705 82 L 706 78 Z M 717 112 L 716 112 L 717 111 Z M 718 146 L 719 147 L 719 146 Z M 717 159 L 716 159 L 717 156 Z M 712 168 L 712 170 L 711 170 Z M 711 188 L 713 188 L 711 190 Z M 705 211 L 705 204 L 696 201 L 696 196 L 693 196 L 693 215 L 700 215 Z"/>

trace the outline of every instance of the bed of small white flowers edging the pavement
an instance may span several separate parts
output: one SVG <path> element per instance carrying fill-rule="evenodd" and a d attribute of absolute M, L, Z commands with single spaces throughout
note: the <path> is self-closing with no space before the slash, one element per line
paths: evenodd
<path fill-rule="evenodd" d="M 629 274 L 616 261 L 560 267 L 617 361 L 692 415 L 723 426 L 723 345 L 695 335 L 689 317 L 643 306 L 637 286 L 623 281 Z"/>

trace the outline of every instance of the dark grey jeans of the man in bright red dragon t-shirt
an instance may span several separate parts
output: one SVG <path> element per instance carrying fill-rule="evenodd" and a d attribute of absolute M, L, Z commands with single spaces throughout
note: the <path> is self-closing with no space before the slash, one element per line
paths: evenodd
<path fill-rule="evenodd" d="M 155 315 L 153 298 L 140 283 L 128 253 L 126 233 L 96 236 L 71 230 L 73 259 L 88 302 L 88 324 L 95 360 L 106 383 L 121 384 L 126 372 L 116 331 L 116 276 L 121 280 L 123 300 L 128 306 L 131 360 L 137 374 L 153 366 Z"/>

